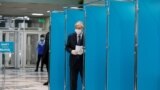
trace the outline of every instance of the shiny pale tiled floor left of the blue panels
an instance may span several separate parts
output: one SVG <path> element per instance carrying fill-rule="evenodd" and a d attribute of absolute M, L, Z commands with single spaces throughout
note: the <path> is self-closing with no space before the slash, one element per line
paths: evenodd
<path fill-rule="evenodd" d="M 34 72 L 34 68 L 0 69 L 0 90 L 48 90 L 43 86 L 47 72 Z"/>

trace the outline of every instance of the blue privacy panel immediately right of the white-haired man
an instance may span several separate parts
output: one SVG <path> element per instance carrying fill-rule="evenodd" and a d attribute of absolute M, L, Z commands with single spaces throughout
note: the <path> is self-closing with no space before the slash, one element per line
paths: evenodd
<path fill-rule="evenodd" d="M 85 89 L 105 90 L 107 77 L 107 8 L 87 6 L 85 10 Z"/>

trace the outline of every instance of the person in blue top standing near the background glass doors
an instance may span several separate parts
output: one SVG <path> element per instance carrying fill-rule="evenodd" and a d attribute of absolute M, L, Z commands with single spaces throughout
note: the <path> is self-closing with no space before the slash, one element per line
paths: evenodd
<path fill-rule="evenodd" d="M 43 53 L 44 53 L 44 46 L 45 46 L 45 37 L 44 37 L 44 35 L 41 35 L 40 41 L 38 41 L 38 46 L 37 46 L 38 60 L 37 60 L 35 72 L 38 72 L 38 67 L 39 67 L 40 61 L 41 61 L 41 72 L 43 72 L 42 57 L 43 57 Z"/>

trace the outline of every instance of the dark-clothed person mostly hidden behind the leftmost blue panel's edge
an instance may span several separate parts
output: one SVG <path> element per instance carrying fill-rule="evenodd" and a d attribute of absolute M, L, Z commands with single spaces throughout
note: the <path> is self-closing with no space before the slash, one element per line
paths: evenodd
<path fill-rule="evenodd" d="M 46 65 L 47 72 L 48 72 L 48 81 L 44 83 L 44 85 L 48 85 L 49 82 L 49 32 L 46 34 L 45 38 L 45 47 L 44 47 L 44 54 L 42 59 L 43 65 Z"/>

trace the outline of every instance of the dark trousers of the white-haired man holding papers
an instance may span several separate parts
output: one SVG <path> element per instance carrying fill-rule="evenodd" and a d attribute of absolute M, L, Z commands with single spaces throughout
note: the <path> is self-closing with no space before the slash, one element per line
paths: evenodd
<path fill-rule="evenodd" d="M 76 63 L 70 66 L 70 90 L 77 90 L 79 74 L 83 81 L 83 60 L 76 60 Z"/>

